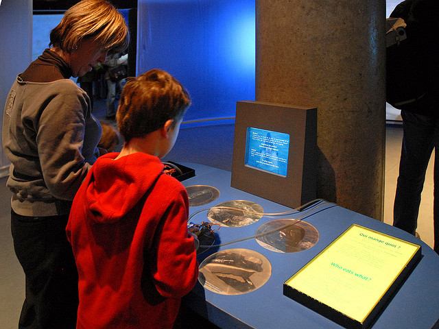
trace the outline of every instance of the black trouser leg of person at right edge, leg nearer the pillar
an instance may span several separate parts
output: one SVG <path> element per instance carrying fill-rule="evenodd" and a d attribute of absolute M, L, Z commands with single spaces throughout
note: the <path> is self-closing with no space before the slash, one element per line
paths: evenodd
<path fill-rule="evenodd" d="M 434 147 L 435 120 L 407 111 L 401 111 L 401 115 L 404 133 L 393 225 L 414 234 L 425 171 Z"/>

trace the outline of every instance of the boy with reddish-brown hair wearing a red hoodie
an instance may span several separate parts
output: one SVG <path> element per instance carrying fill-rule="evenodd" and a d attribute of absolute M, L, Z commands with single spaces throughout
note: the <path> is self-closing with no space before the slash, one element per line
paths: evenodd
<path fill-rule="evenodd" d="M 185 88 L 158 69 L 123 88 L 123 149 L 93 164 L 67 224 L 79 274 L 77 328 L 171 328 L 196 283 L 187 193 L 160 160 L 189 103 Z"/>

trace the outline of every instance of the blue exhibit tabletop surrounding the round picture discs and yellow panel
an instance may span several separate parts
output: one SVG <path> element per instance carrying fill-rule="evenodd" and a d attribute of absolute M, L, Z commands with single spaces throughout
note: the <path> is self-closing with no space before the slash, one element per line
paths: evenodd
<path fill-rule="evenodd" d="M 204 206 L 191 207 L 191 214 L 230 200 L 255 202 L 263 207 L 264 212 L 292 210 L 231 188 L 229 171 L 194 163 L 185 163 L 185 165 L 195 169 L 195 177 L 185 180 L 183 182 L 185 186 L 209 185 L 219 190 L 219 197 L 215 201 Z M 407 232 L 329 202 L 322 202 L 320 206 L 311 206 L 308 210 L 300 212 L 292 210 L 292 212 L 293 215 L 276 217 L 276 219 L 302 218 L 303 221 L 307 221 L 320 234 L 316 245 L 301 252 L 279 253 L 261 247 L 255 239 L 251 238 L 227 244 L 230 241 L 253 236 L 263 223 L 273 220 L 269 217 L 262 217 L 256 223 L 240 228 L 222 227 L 215 232 L 217 239 L 215 244 L 221 245 L 200 254 L 198 256 L 200 263 L 210 254 L 225 249 L 252 249 L 268 258 L 272 265 L 272 276 L 261 288 L 242 295 L 220 295 L 204 289 L 198 283 L 183 300 L 185 306 L 220 328 L 342 328 L 339 324 L 283 295 L 283 282 L 306 265 L 351 224 L 357 223 L 422 246 L 420 262 L 396 290 L 394 297 L 383 308 L 372 328 L 421 329 L 435 328 L 435 324 L 438 326 L 439 256 L 428 245 Z M 195 223 L 208 221 L 206 214 L 206 211 L 200 212 L 191 221 Z M 361 300 L 352 302 L 360 304 Z"/>

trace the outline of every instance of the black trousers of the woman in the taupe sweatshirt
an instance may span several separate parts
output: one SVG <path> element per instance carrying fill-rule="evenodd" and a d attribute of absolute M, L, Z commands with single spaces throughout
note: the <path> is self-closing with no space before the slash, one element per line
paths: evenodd
<path fill-rule="evenodd" d="M 14 249 L 26 277 L 21 329 L 75 328 L 78 272 L 64 231 L 67 217 L 23 217 L 11 211 Z"/>

